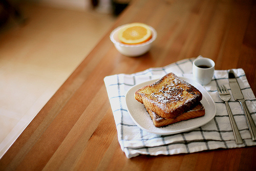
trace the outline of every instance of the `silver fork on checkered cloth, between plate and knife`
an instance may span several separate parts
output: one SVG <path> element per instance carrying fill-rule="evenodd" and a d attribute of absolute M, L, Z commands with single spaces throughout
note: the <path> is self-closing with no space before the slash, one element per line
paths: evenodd
<path fill-rule="evenodd" d="M 234 139 L 236 140 L 237 144 L 242 144 L 243 143 L 242 137 L 239 133 L 238 126 L 236 124 L 236 121 L 234 121 L 233 114 L 232 114 L 230 106 L 228 104 L 228 101 L 231 98 L 230 93 L 229 93 L 229 91 L 227 90 L 227 88 L 225 86 L 221 86 L 221 87 L 217 86 L 217 90 L 218 90 L 220 98 L 223 101 L 225 101 L 225 104 L 226 104 L 226 107 L 227 107 L 227 113 L 228 113 L 228 116 L 229 116 L 229 121 L 231 123 L 232 130 L 233 130 L 233 133 L 234 133 Z"/>

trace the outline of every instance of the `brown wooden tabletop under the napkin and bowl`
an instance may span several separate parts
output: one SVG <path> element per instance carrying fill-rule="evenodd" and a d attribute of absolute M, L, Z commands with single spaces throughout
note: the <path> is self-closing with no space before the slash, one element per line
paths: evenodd
<path fill-rule="evenodd" d="M 154 27 L 158 37 L 141 57 L 121 55 L 110 32 L 126 23 Z M 0 160 L 0 170 L 252 170 L 256 147 L 127 159 L 103 78 L 163 67 L 202 55 L 217 70 L 244 69 L 256 93 L 256 6 L 252 1 L 141 0 L 119 16 Z"/>

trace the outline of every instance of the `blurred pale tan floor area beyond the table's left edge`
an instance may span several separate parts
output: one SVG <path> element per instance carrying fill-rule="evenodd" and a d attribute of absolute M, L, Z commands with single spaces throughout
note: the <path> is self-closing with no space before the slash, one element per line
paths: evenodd
<path fill-rule="evenodd" d="M 0 158 L 127 0 L 0 0 Z"/>

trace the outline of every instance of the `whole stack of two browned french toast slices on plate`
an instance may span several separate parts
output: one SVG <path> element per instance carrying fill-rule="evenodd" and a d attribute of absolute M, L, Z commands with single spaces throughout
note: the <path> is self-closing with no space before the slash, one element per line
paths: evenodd
<path fill-rule="evenodd" d="M 138 89 L 135 99 L 144 104 L 156 127 L 205 115 L 202 93 L 174 73 Z"/>

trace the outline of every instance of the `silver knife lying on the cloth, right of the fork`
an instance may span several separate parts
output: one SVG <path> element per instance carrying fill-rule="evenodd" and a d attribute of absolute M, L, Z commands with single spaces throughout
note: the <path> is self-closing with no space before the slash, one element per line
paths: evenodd
<path fill-rule="evenodd" d="M 232 95 L 234 97 L 234 100 L 237 100 L 237 101 L 240 102 L 240 104 L 242 106 L 242 109 L 244 111 L 244 114 L 245 114 L 246 122 L 247 122 L 248 127 L 249 127 L 251 138 L 252 138 L 253 141 L 255 141 L 256 140 L 256 126 L 255 126 L 255 123 L 254 123 L 254 121 L 253 121 L 253 119 L 250 115 L 250 112 L 247 108 L 247 105 L 245 103 L 245 99 L 244 99 L 244 96 L 243 96 L 243 94 L 241 92 L 241 89 L 239 87 L 237 78 L 234 75 L 234 72 L 232 70 L 230 70 L 228 72 L 228 80 L 229 80 L 229 86 L 230 86 Z"/>

